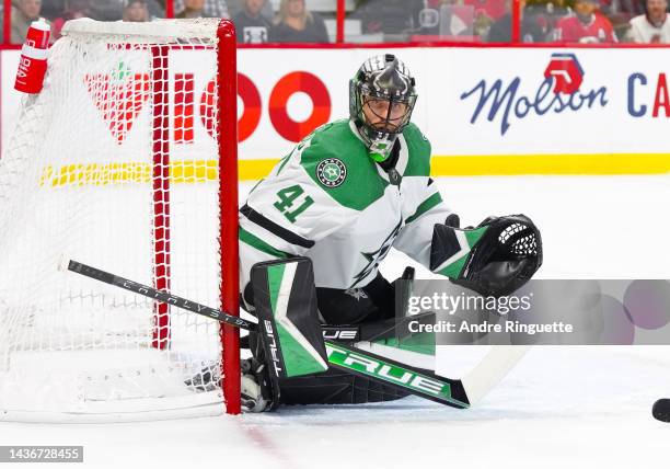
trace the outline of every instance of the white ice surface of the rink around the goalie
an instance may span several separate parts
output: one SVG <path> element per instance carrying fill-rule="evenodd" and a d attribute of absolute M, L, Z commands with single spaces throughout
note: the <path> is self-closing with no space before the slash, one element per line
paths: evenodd
<path fill-rule="evenodd" d="M 464 224 L 492 214 L 533 218 L 543 278 L 670 277 L 668 175 L 439 184 Z M 392 253 L 383 272 L 394 277 L 407 263 Z M 454 367 L 476 353 L 454 350 Z M 85 467 L 114 468 L 660 468 L 670 426 L 650 409 L 668 394 L 670 347 L 536 346 L 466 411 L 407 398 L 132 424 L 0 423 L 0 444 L 84 445 Z"/>

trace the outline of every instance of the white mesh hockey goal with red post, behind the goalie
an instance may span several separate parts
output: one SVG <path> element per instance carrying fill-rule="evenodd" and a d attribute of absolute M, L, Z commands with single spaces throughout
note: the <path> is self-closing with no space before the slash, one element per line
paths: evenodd
<path fill-rule="evenodd" d="M 240 412 L 234 328 L 62 270 L 236 314 L 236 171 L 230 21 L 66 25 L 0 159 L 0 420 Z"/>

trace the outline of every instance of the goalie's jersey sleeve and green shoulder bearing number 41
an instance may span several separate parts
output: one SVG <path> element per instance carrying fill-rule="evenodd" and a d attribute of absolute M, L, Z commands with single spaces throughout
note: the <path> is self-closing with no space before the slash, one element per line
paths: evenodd
<path fill-rule="evenodd" d="M 336 124 L 301 141 L 252 190 L 240 209 L 242 286 L 254 263 L 303 255 L 354 222 L 365 206 L 355 190 L 359 175 L 347 161 L 355 157 L 356 142 L 348 128 L 342 133 Z"/>

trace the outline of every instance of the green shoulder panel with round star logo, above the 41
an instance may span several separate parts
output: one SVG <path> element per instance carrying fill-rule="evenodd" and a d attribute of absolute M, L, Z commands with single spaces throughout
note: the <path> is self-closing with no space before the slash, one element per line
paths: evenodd
<path fill-rule="evenodd" d="M 349 128 L 348 119 L 321 126 L 304 142 L 308 140 L 299 155 L 300 164 L 314 184 L 338 204 L 362 210 L 383 195 L 388 183 Z"/>

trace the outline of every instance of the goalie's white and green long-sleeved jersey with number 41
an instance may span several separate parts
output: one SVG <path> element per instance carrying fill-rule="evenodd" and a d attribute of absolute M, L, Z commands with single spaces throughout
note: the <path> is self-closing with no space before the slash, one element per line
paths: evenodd
<path fill-rule="evenodd" d="M 426 137 L 409 124 L 398 140 L 386 173 L 348 119 L 304 138 L 240 209 L 242 287 L 256 262 L 290 255 L 312 260 L 317 287 L 338 289 L 366 286 L 391 247 L 428 267 L 432 228 L 451 211 L 429 178 Z"/>

